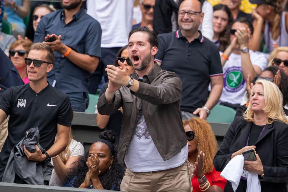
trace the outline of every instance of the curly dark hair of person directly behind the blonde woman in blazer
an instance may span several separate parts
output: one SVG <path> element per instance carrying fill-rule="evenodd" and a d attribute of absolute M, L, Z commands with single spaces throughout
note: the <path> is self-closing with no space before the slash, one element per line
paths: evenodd
<path fill-rule="evenodd" d="M 270 66 L 266 67 L 263 71 L 271 71 L 273 75 L 275 76 L 277 71 L 279 70 L 279 67 L 277 66 Z M 279 85 L 279 89 L 283 95 L 283 106 L 288 103 L 288 76 L 280 70 L 281 75 L 281 81 Z"/>

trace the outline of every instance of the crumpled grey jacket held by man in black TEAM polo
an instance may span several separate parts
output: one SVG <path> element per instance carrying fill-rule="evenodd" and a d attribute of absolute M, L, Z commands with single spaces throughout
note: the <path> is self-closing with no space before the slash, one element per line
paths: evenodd
<path fill-rule="evenodd" d="M 41 152 L 45 152 L 45 149 L 39 145 L 39 139 L 38 127 L 26 131 L 26 136 L 11 151 L 2 182 L 14 183 L 15 174 L 28 184 L 43 185 L 44 181 L 50 180 L 53 170 L 52 164 L 49 161 L 42 163 L 28 160 L 24 153 L 23 145 L 31 153 L 36 151 L 35 145 L 38 145 Z"/>

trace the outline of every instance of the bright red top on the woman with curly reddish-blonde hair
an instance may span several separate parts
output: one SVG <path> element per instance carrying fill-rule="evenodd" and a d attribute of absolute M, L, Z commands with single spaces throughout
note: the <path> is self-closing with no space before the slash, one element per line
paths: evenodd
<path fill-rule="evenodd" d="M 215 168 L 212 170 L 212 172 L 205 174 L 206 178 L 208 179 L 210 185 L 217 185 L 218 187 L 220 187 L 222 190 L 224 190 L 224 187 L 226 185 L 227 180 L 222 178 L 220 176 L 219 171 L 216 171 Z M 192 182 L 192 186 L 193 186 L 193 192 L 201 192 L 200 188 L 199 188 L 199 183 L 197 181 L 197 177 L 194 176 L 191 179 Z"/>

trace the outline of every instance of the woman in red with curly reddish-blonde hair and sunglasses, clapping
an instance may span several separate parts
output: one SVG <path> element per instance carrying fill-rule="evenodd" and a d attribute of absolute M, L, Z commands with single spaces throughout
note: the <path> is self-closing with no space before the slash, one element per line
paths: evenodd
<path fill-rule="evenodd" d="M 187 136 L 193 192 L 223 192 L 227 181 L 213 166 L 218 146 L 211 126 L 200 118 L 186 120 L 183 126 Z M 204 189 L 200 190 L 200 187 Z"/>

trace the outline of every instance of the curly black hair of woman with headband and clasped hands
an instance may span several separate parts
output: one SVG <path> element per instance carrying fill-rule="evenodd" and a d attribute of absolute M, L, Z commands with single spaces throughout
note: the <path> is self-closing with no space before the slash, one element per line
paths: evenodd
<path fill-rule="evenodd" d="M 99 138 L 107 140 L 113 144 L 116 142 L 116 134 L 111 130 L 103 131 L 101 134 L 99 134 Z M 117 161 L 117 147 L 115 145 L 114 151 L 114 161 L 110 170 L 108 170 L 104 175 L 99 176 L 99 180 L 102 183 L 103 188 L 107 190 L 111 190 L 112 186 L 114 190 L 120 189 L 121 182 L 119 181 L 123 179 L 125 171 L 125 167 L 120 165 Z M 64 182 L 67 182 L 70 179 L 76 177 L 72 185 L 73 187 L 77 188 L 84 182 L 86 173 L 89 170 L 86 165 L 88 154 L 89 152 L 87 152 L 83 157 L 79 158 L 79 160 L 73 164 L 73 166 L 70 168 L 70 171 L 68 171 L 67 175 L 65 176 Z M 110 155 L 112 156 L 111 150 Z"/>

